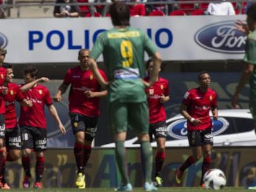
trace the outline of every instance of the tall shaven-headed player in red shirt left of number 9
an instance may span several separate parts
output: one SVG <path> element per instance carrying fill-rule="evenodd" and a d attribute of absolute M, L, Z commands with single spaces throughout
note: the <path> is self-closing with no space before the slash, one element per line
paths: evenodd
<path fill-rule="evenodd" d="M 75 135 L 74 154 L 77 164 L 78 188 L 85 188 L 84 170 L 91 154 L 92 141 L 98 125 L 100 115 L 100 97 L 106 96 L 107 91 L 101 91 L 100 84 L 88 67 L 90 51 L 79 51 L 80 65 L 67 70 L 64 81 L 54 96 L 54 101 L 61 101 L 61 95 L 69 87 L 69 115 L 73 133 Z M 106 80 L 105 73 L 100 70 Z"/>

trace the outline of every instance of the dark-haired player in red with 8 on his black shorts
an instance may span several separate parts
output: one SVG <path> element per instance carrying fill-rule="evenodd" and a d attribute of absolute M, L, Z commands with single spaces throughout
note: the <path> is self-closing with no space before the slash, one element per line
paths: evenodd
<path fill-rule="evenodd" d="M 36 80 L 38 70 L 33 67 L 27 67 L 23 70 L 25 84 L 20 85 L 20 90 L 25 98 L 33 102 L 32 107 L 20 107 L 19 125 L 22 133 L 22 167 L 25 171 L 23 188 L 30 187 L 30 154 L 32 151 L 36 155 L 35 183 L 34 188 L 42 188 L 41 178 L 45 169 L 45 150 L 46 150 L 46 116 L 45 105 L 49 113 L 56 120 L 59 129 L 64 134 L 66 129 L 59 119 L 58 112 L 53 105 L 48 88 L 38 84 Z M 32 86 L 33 85 L 33 86 Z"/>

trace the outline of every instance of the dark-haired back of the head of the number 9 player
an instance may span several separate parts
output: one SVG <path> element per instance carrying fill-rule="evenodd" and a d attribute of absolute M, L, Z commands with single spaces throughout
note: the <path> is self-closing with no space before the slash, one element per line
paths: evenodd
<path fill-rule="evenodd" d="M 130 25 L 130 9 L 124 2 L 116 1 L 111 4 L 109 14 L 114 26 Z"/>

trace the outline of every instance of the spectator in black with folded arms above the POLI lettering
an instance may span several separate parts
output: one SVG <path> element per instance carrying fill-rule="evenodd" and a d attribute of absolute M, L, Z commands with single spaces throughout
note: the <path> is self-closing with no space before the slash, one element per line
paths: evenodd
<path fill-rule="evenodd" d="M 54 17 L 79 17 L 77 0 L 57 0 L 53 10 Z"/>

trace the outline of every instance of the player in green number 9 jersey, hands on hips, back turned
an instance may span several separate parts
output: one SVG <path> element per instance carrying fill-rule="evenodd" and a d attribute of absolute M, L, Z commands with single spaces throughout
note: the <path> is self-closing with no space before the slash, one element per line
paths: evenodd
<path fill-rule="evenodd" d="M 150 38 L 141 30 L 130 27 L 129 8 L 123 2 L 114 2 L 109 8 L 114 28 L 104 31 L 90 54 L 90 69 L 102 87 L 108 88 L 109 127 L 116 143 L 117 166 L 121 173 L 121 186 L 117 191 L 132 191 L 129 182 L 124 141 L 127 125 L 131 125 L 140 141 L 141 161 L 145 177 L 144 189 L 155 191 L 151 182 L 152 149 L 148 135 L 148 104 L 145 87 L 156 81 L 161 57 Z M 153 57 L 153 73 L 149 82 L 143 81 L 145 74 L 144 52 Z M 96 59 L 103 53 L 108 82 L 98 71 Z"/>

